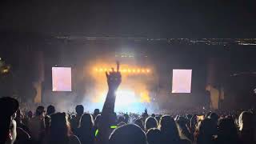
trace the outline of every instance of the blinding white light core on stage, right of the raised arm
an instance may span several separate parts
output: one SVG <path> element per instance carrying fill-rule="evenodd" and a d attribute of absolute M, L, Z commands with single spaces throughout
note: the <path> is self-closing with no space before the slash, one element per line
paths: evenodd
<path fill-rule="evenodd" d="M 136 102 L 136 96 L 132 90 L 118 90 L 115 104 L 117 106 L 129 106 Z"/>

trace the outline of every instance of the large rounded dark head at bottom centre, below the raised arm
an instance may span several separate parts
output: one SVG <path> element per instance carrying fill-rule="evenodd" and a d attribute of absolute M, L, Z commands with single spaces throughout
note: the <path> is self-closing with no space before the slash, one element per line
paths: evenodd
<path fill-rule="evenodd" d="M 120 126 L 110 134 L 110 144 L 146 144 L 146 134 L 136 125 Z"/>

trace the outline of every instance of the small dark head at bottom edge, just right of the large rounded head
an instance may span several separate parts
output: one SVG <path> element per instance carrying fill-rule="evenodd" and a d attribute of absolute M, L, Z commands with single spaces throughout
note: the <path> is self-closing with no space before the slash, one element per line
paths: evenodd
<path fill-rule="evenodd" d="M 162 143 L 161 131 L 156 128 L 148 130 L 146 133 L 146 138 L 149 144 Z"/>

